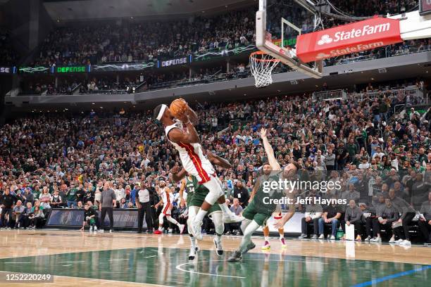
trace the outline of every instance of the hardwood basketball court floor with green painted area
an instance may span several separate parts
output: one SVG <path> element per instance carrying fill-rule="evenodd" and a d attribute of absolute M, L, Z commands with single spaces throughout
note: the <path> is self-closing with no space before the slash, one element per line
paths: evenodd
<path fill-rule="evenodd" d="M 225 254 L 215 254 L 212 236 L 188 260 L 187 235 L 53 229 L 1 231 L 0 271 L 54 275 L 35 286 L 429 286 L 431 248 L 288 239 L 282 249 L 263 238 L 242 263 L 227 262 L 240 236 L 224 236 Z M 28 286 L 29 283 L 13 283 Z M 0 283 L 11 286 L 10 283 Z"/>

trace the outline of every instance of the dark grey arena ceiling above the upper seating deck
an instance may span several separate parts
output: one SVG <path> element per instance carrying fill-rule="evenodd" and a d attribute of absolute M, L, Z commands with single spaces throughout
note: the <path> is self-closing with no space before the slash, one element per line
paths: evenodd
<path fill-rule="evenodd" d="M 1 0 L 0 0 L 1 1 Z M 257 5 L 255 0 L 42 0 L 53 20 L 151 18 L 161 15 L 215 13 Z"/>

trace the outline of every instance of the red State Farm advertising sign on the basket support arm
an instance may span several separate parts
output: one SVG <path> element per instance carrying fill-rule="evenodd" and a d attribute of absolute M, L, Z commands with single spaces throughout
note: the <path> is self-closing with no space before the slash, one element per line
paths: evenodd
<path fill-rule="evenodd" d="M 296 41 L 296 56 L 308 63 L 402 41 L 399 34 L 399 20 L 375 17 L 327 30 L 301 34 Z"/>

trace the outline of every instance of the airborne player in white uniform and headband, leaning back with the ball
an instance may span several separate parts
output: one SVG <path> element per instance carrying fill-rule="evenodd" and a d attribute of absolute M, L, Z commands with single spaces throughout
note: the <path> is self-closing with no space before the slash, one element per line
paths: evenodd
<path fill-rule="evenodd" d="M 201 144 L 199 144 L 199 135 L 189 120 L 190 118 L 193 122 L 197 121 L 197 115 L 194 113 L 194 110 L 186 105 L 180 111 L 178 119 L 175 119 L 168 106 L 163 104 L 154 109 L 154 118 L 163 123 L 168 141 L 180 153 L 182 167 L 189 174 L 196 177 L 199 180 L 199 184 L 203 184 L 209 190 L 194 221 L 190 224 L 190 231 L 192 231 L 193 236 L 198 240 L 202 240 L 202 220 L 211 206 L 216 202 L 220 205 L 223 212 L 223 222 L 240 222 L 244 220 L 244 217 L 233 214 L 227 208 L 222 183 L 218 179 L 217 174 L 215 174 L 213 165 L 204 156 Z"/>

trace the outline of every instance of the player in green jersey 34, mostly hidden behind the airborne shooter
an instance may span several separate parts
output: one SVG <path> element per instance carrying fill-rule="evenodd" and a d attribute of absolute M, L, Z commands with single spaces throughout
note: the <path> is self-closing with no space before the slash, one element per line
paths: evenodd
<path fill-rule="evenodd" d="M 232 165 L 230 165 L 227 160 L 220 158 L 217 155 L 213 155 L 213 153 L 207 152 L 206 157 L 213 165 L 218 165 L 223 168 L 232 167 Z M 180 170 L 180 172 L 173 174 L 173 179 L 175 181 L 181 180 L 180 198 L 182 203 L 184 203 L 185 201 L 183 197 L 184 191 L 187 191 L 187 208 L 189 209 L 187 228 L 189 229 L 189 222 L 193 221 L 202 203 L 204 203 L 205 197 L 209 191 L 203 184 L 199 184 L 196 177 L 187 174 L 184 168 Z M 223 212 L 217 203 L 211 206 L 211 208 L 208 210 L 208 216 L 211 217 L 211 219 L 213 220 L 215 227 L 215 237 L 213 238 L 215 250 L 217 252 L 217 255 L 221 256 L 223 255 L 221 236 L 223 234 L 223 231 L 225 230 L 225 226 L 223 224 Z M 194 238 L 190 230 L 189 236 L 192 243 L 189 253 L 189 260 L 194 260 L 194 257 L 196 257 L 196 252 L 199 250 L 199 247 L 196 244 L 196 238 Z"/>

